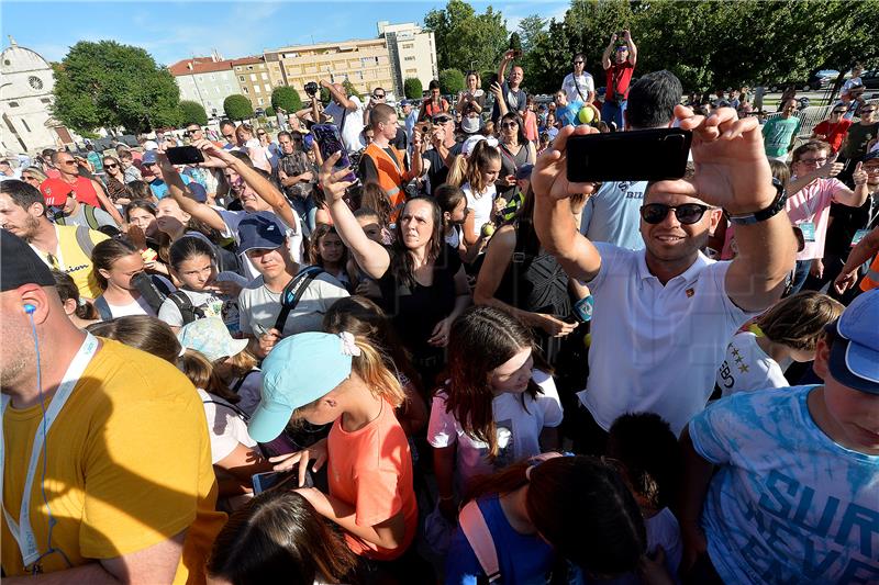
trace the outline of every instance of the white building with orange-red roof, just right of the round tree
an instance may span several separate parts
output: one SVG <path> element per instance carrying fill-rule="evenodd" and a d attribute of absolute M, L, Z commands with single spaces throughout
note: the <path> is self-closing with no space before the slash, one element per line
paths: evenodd
<path fill-rule="evenodd" d="M 209 117 L 222 116 L 223 100 L 242 92 L 232 61 L 223 59 L 216 52 L 210 57 L 177 61 L 168 70 L 180 88 L 180 99 L 202 104 Z"/>

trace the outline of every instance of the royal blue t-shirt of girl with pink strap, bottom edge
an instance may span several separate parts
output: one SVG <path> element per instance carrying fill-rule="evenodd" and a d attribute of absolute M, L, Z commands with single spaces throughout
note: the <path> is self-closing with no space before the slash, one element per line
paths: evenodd
<path fill-rule="evenodd" d="M 480 498 L 504 585 L 545 585 L 553 569 L 553 548 L 537 535 L 520 535 L 503 515 L 498 495 Z M 476 585 L 486 573 L 460 528 L 455 530 L 446 558 L 446 585 Z"/>

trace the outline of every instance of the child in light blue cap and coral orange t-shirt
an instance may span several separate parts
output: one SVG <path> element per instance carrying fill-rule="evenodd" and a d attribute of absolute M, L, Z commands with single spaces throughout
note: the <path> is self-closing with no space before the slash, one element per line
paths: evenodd
<path fill-rule="evenodd" d="M 308 450 L 272 458 L 275 470 L 327 464 L 330 493 L 300 488 L 319 514 L 341 526 L 356 554 L 391 561 L 415 536 L 412 459 L 394 408 L 405 395 L 381 353 L 349 333 L 303 333 L 278 342 L 263 362 L 263 396 L 251 436 L 275 439 L 290 421 L 333 423 Z"/>

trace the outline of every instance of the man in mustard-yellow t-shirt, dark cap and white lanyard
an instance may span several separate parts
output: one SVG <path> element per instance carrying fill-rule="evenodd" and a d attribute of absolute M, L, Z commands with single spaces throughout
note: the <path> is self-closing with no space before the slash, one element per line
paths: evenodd
<path fill-rule="evenodd" d="M 0 236 L 4 585 L 203 583 L 225 515 L 198 393 L 77 329 L 48 268 Z"/>

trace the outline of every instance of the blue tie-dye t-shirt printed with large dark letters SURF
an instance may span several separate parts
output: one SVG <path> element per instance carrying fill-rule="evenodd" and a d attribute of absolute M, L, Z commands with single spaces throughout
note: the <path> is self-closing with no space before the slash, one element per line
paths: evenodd
<path fill-rule="evenodd" d="M 879 455 L 815 425 L 815 387 L 736 394 L 690 421 L 720 465 L 702 527 L 725 583 L 879 583 Z"/>

